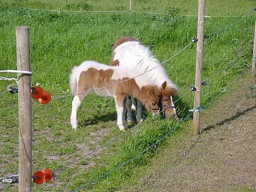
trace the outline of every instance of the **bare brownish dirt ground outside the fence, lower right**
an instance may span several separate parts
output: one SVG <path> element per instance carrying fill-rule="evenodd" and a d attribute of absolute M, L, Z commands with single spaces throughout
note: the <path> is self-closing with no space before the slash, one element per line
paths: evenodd
<path fill-rule="evenodd" d="M 161 152 L 137 187 L 121 191 L 256 191 L 255 83 L 240 79 L 201 125 L 201 135 Z"/>

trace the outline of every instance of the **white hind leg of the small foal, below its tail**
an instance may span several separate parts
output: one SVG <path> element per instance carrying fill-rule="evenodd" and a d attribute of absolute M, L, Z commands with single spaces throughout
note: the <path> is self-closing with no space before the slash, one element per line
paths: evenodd
<path fill-rule="evenodd" d="M 70 124 L 72 126 L 73 130 L 77 130 L 77 110 L 80 107 L 84 95 L 75 95 L 72 101 L 72 110 L 71 110 L 71 116 L 70 116 Z"/>

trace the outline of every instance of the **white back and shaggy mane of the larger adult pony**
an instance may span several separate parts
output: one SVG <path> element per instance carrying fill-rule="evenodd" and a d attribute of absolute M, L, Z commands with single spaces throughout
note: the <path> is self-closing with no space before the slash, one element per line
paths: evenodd
<path fill-rule="evenodd" d="M 154 85 L 161 88 L 162 83 L 166 81 L 167 86 L 178 92 L 177 85 L 168 78 L 165 69 L 146 46 L 135 41 L 125 42 L 117 46 L 113 53 L 115 54 L 113 60 L 119 60 L 120 67 L 126 67 L 127 69 L 136 68 L 141 73 L 152 69 L 146 75 L 154 82 Z"/>

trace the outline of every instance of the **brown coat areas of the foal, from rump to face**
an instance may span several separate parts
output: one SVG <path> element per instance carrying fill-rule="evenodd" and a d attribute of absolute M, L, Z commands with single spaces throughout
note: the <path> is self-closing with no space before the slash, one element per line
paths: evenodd
<path fill-rule="evenodd" d="M 124 80 L 129 79 L 111 79 L 112 75 L 113 69 L 98 70 L 91 67 L 87 71 L 83 71 L 79 76 L 78 94 L 91 89 L 103 88 L 104 86 L 123 82 Z M 158 109 L 158 97 L 161 95 L 161 90 L 154 85 L 143 86 L 139 89 L 135 79 L 95 92 L 101 96 L 106 96 L 108 94 L 115 95 L 117 96 L 117 100 L 126 100 L 128 97 L 134 96 L 143 103 L 149 112 L 151 109 Z M 86 94 L 78 95 L 79 100 L 82 101 L 85 96 Z M 118 106 L 123 106 L 123 103 L 121 102 L 117 104 Z"/>

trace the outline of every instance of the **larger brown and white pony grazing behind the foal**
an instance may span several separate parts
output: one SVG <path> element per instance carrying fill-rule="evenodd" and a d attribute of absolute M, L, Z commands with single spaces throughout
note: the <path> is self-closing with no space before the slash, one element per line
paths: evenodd
<path fill-rule="evenodd" d="M 110 66 L 126 66 L 145 75 L 154 82 L 154 85 L 161 88 L 162 97 L 160 100 L 160 110 L 164 118 L 174 117 L 178 119 L 173 103 L 173 96 L 178 92 L 178 87 L 169 78 L 160 62 L 152 55 L 149 48 L 144 46 L 138 39 L 132 37 L 122 37 L 118 39 L 112 49 Z M 158 66 L 158 67 L 157 67 Z M 166 82 L 166 84 L 162 84 Z M 138 113 L 141 113 L 141 103 L 137 103 Z M 127 102 L 127 121 L 131 120 L 131 102 Z M 130 108 L 130 109 L 129 109 Z M 137 119 L 138 120 L 138 119 Z"/>

